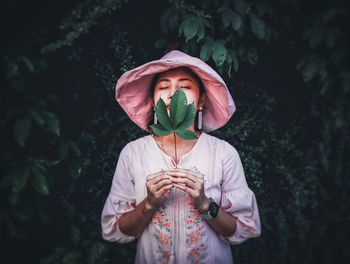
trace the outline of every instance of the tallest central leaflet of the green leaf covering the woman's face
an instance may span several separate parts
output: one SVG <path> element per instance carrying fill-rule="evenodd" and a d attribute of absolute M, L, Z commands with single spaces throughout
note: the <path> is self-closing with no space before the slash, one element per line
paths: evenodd
<path fill-rule="evenodd" d="M 177 90 L 170 101 L 170 120 L 173 129 L 184 120 L 187 111 L 187 98 L 184 91 Z"/>

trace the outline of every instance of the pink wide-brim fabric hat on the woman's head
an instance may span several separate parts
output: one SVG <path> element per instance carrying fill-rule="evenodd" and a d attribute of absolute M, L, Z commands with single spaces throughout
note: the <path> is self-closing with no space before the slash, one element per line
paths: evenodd
<path fill-rule="evenodd" d="M 183 66 L 190 68 L 202 80 L 205 87 L 202 130 L 211 132 L 229 121 L 236 111 L 236 106 L 219 74 L 204 61 L 181 51 L 172 50 L 159 60 L 125 72 L 117 81 L 115 98 L 139 127 L 150 132 L 148 125 L 153 118 L 150 86 L 153 77 L 157 73 Z"/>

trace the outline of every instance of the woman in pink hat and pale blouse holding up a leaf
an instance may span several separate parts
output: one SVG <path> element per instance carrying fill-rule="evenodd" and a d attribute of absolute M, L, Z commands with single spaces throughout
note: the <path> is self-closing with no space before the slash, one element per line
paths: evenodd
<path fill-rule="evenodd" d="M 102 236 L 119 243 L 138 239 L 136 263 L 232 263 L 230 244 L 261 231 L 238 152 L 205 133 L 235 111 L 224 81 L 200 59 L 175 50 L 124 73 L 116 99 L 149 131 L 157 101 L 169 107 L 177 89 L 203 111 L 195 122 L 202 129 L 188 128 L 198 138 L 177 136 L 177 155 L 173 134 L 148 135 L 123 148 L 102 212 Z"/>

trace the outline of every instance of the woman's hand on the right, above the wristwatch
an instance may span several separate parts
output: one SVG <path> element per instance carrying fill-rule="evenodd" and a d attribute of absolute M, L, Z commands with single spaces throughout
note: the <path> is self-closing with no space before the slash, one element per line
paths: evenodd
<path fill-rule="evenodd" d="M 199 172 L 176 168 L 167 171 L 174 186 L 187 192 L 193 199 L 193 206 L 200 212 L 209 209 L 210 200 L 204 193 L 204 177 Z"/>

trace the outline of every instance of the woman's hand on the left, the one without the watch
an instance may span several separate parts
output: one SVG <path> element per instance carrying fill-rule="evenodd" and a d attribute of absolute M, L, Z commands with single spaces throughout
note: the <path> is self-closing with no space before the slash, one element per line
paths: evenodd
<path fill-rule="evenodd" d="M 149 211 L 157 209 L 162 201 L 164 193 L 173 187 L 173 183 L 169 179 L 169 175 L 165 171 L 150 174 L 146 179 L 147 198 L 145 207 Z"/>

